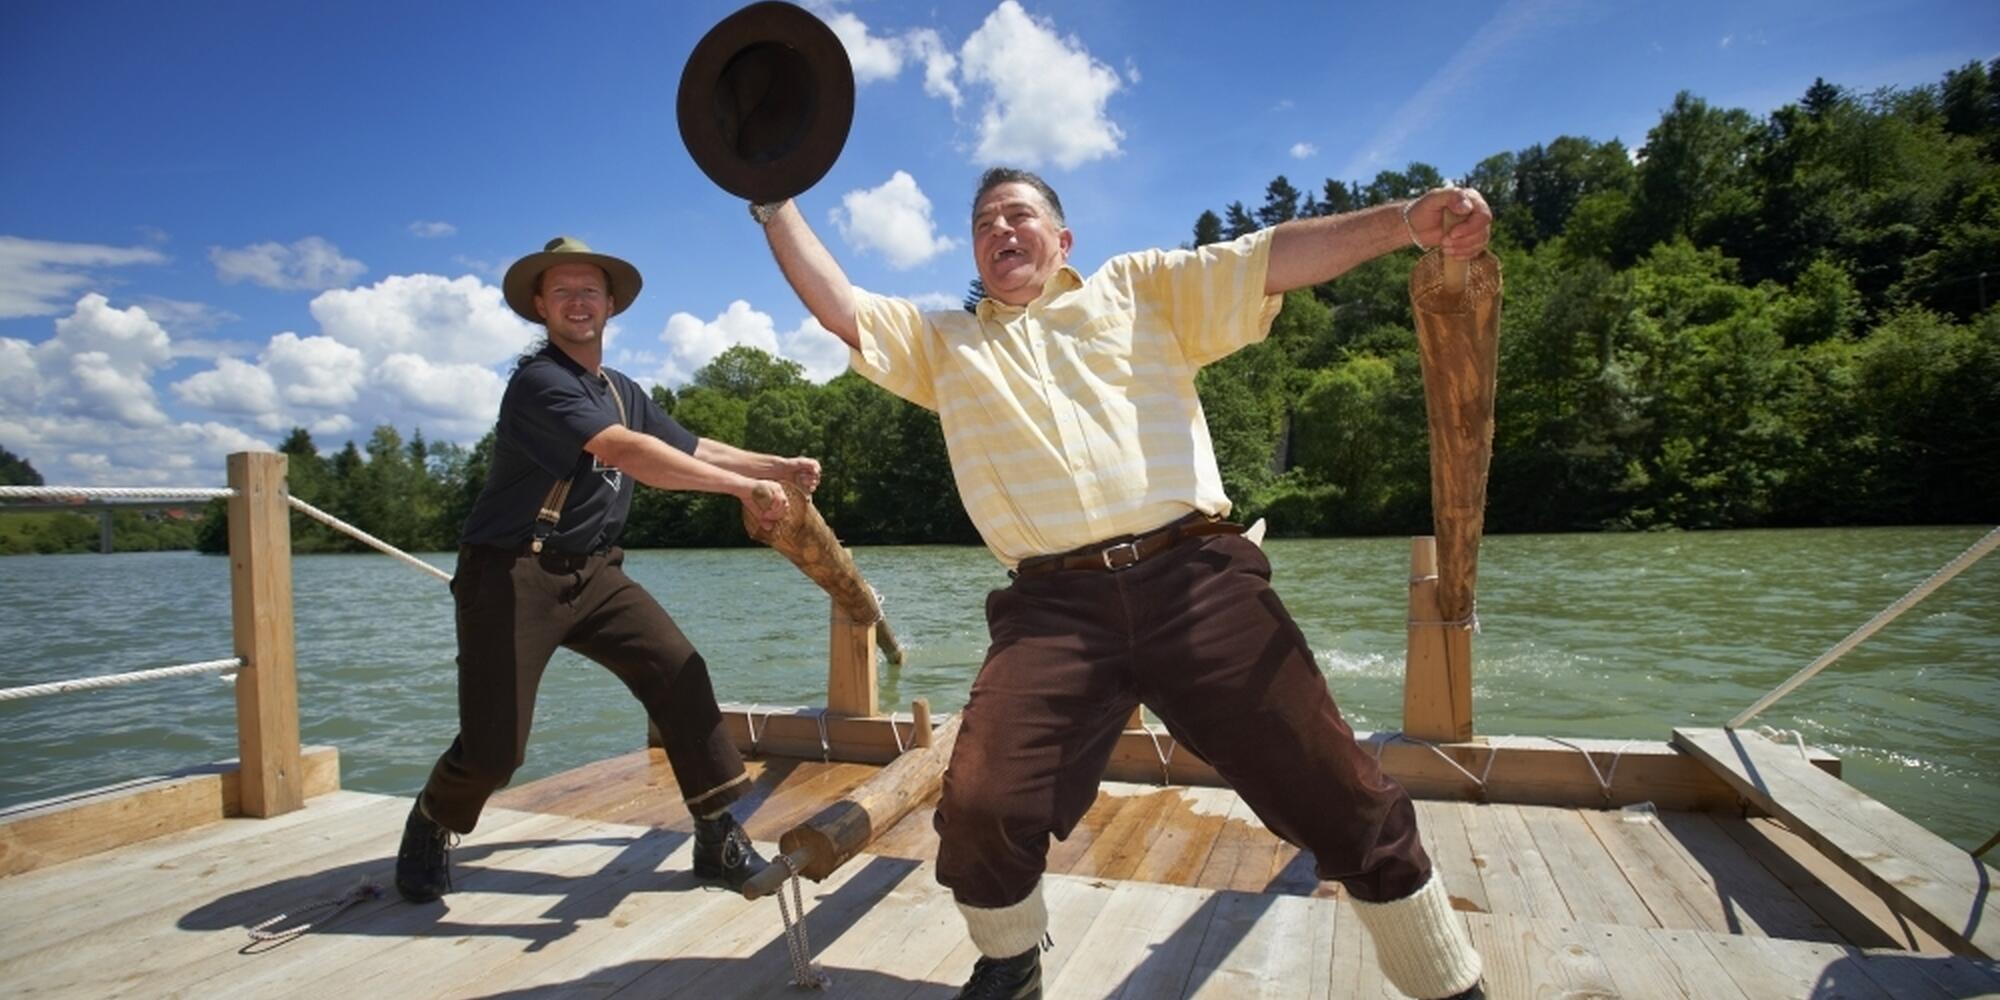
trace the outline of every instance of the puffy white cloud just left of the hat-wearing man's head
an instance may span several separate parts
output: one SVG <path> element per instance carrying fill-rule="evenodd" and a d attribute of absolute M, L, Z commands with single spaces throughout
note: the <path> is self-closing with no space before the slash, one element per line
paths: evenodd
<path fill-rule="evenodd" d="M 312 300 L 320 332 L 370 360 L 422 354 L 436 362 L 498 364 L 520 354 L 536 328 L 506 308 L 500 288 L 474 276 L 394 274 Z"/>

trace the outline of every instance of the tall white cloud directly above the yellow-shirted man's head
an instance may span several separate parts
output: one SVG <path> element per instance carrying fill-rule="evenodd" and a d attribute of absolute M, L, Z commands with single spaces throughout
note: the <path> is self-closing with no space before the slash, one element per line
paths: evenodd
<path fill-rule="evenodd" d="M 980 162 L 1068 170 L 1118 154 L 1124 130 L 1104 114 L 1122 86 L 1118 72 L 1016 0 L 1002 0 L 966 38 L 960 64 L 966 82 L 992 88 L 978 126 Z"/>

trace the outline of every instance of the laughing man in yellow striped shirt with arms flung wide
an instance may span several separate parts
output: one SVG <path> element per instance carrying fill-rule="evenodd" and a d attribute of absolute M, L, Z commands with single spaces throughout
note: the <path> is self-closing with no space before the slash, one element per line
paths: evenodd
<path fill-rule="evenodd" d="M 1446 234 L 1446 210 L 1468 220 Z M 1086 278 L 1056 192 L 996 168 L 972 204 L 986 298 L 970 314 L 854 288 L 792 202 L 752 216 L 854 370 L 938 412 L 966 512 L 1012 576 L 986 598 L 992 646 L 936 814 L 938 880 L 982 954 L 962 996 L 1040 996 L 1048 844 L 1090 808 L 1136 704 L 1354 896 L 1396 988 L 1482 996 L 1410 796 L 1356 746 L 1270 564 L 1222 520 L 1194 392 L 1200 366 L 1270 332 L 1286 290 L 1406 242 L 1476 256 L 1478 192 L 1122 254 Z"/>

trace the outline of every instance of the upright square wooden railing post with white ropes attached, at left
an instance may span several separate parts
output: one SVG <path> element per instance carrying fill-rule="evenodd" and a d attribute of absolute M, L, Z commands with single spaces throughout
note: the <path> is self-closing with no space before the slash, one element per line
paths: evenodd
<path fill-rule="evenodd" d="M 286 458 L 236 452 L 230 488 L 230 618 L 236 632 L 236 748 L 244 816 L 306 804 L 292 650 L 292 512 Z"/>

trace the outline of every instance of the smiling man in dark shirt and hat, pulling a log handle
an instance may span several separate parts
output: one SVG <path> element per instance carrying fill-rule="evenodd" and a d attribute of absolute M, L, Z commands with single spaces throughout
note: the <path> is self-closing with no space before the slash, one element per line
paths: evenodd
<path fill-rule="evenodd" d="M 618 674 L 660 728 L 688 812 L 694 872 L 730 888 L 764 868 L 728 806 L 748 792 L 708 664 L 666 608 L 624 574 L 618 534 L 634 480 L 730 494 L 776 524 L 780 482 L 812 490 L 820 464 L 698 438 L 630 378 L 604 368 L 604 324 L 638 296 L 632 264 L 572 238 L 508 268 L 508 306 L 548 330 L 500 400 L 494 458 L 460 536 L 458 738 L 416 796 L 396 854 L 396 890 L 448 892 L 452 834 L 472 832 L 486 798 L 528 746 L 534 694 L 556 646 Z"/>

